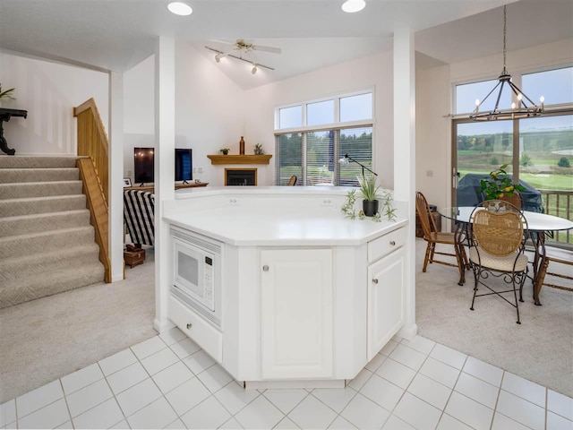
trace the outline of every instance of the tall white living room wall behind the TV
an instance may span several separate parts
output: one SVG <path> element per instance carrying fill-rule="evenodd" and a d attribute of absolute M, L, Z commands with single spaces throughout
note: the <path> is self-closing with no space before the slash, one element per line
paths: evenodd
<path fill-rule="evenodd" d="M 175 50 L 175 148 L 192 148 L 193 179 L 223 185 L 225 167 L 211 166 L 207 155 L 221 148 L 238 154 L 244 90 L 195 47 L 180 42 Z M 124 73 L 124 176 L 132 180 L 133 148 L 155 146 L 154 61 L 150 56 Z"/>

